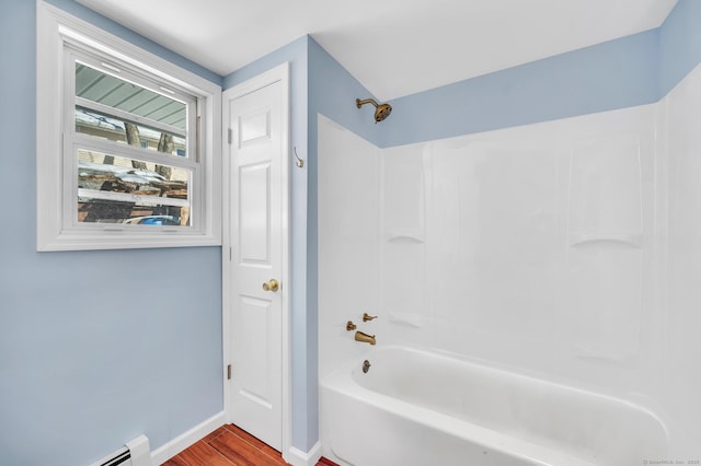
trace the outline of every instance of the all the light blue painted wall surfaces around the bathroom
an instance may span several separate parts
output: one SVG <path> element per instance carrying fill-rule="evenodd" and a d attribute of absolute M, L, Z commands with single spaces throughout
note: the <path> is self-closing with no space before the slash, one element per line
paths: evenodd
<path fill-rule="evenodd" d="M 372 95 L 310 37 L 222 79 L 72 0 L 50 3 L 225 89 L 291 63 L 290 142 L 307 161 L 291 173 L 292 445 L 302 451 L 319 438 L 319 113 L 391 147 L 652 103 L 701 61 L 701 2 L 679 0 L 657 30 L 398 98 L 375 125 L 355 107 Z M 158 447 L 222 409 L 220 248 L 35 252 L 34 14 L 34 1 L 0 3 L 12 45 L 0 50 L 0 464 L 85 464 L 141 432 Z"/>

